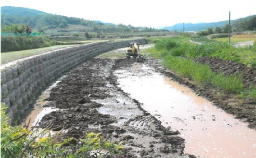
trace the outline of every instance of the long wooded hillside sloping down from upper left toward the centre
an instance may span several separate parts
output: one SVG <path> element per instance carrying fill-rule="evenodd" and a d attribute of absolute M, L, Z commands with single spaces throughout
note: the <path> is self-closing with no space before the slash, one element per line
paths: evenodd
<path fill-rule="evenodd" d="M 37 30 L 82 31 L 82 32 L 169 32 L 147 27 L 115 25 L 99 20 L 91 21 L 76 17 L 48 14 L 34 9 L 3 6 L 1 7 L 1 29 L 4 26 L 26 24 Z"/>

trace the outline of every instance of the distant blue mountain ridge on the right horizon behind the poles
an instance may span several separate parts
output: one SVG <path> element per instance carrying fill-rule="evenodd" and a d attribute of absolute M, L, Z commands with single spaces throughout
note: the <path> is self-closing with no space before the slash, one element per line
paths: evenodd
<path fill-rule="evenodd" d="M 231 22 L 233 21 L 235 20 L 231 20 Z M 209 27 L 210 28 L 223 27 L 226 24 L 228 24 L 228 20 L 213 22 L 213 23 L 184 23 L 184 30 L 185 32 L 201 31 L 201 30 L 206 30 Z M 183 32 L 183 23 L 177 23 L 174 26 L 166 26 L 166 27 L 163 27 L 162 29 L 167 29 L 169 31 Z"/>

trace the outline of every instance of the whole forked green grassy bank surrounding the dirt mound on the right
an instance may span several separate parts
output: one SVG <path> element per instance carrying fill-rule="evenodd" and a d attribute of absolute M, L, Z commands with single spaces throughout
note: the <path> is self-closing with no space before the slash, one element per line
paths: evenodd
<path fill-rule="evenodd" d="M 234 48 L 227 43 L 207 42 L 197 45 L 189 42 L 189 37 L 162 39 L 149 49 L 151 55 L 163 59 L 163 65 L 179 75 L 194 80 L 198 86 L 212 85 L 225 93 L 236 94 L 243 98 L 256 99 L 256 87 L 244 88 L 239 75 L 225 76 L 212 72 L 209 66 L 196 63 L 190 58 L 219 57 L 233 60 L 247 66 L 256 67 L 256 46 Z M 180 57 L 180 56 L 186 56 Z"/>

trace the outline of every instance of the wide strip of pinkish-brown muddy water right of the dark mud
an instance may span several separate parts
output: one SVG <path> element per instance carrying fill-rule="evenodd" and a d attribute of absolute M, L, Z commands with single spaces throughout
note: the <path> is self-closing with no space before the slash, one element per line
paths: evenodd
<path fill-rule="evenodd" d="M 117 70 L 119 87 L 143 103 L 163 126 L 180 131 L 185 153 L 201 158 L 255 158 L 256 131 L 191 89 L 136 63 Z"/>

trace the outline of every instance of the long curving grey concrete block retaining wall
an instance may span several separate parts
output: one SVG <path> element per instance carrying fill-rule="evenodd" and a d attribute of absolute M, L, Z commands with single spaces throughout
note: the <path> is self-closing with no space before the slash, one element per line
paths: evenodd
<path fill-rule="evenodd" d="M 44 53 L 2 70 L 1 102 L 8 106 L 12 125 L 25 117 L 41 92 L 64 72 L 101 53 L 128 47 L 130 42 L 146 43 L 144 39 L 89 43 Z"/>

